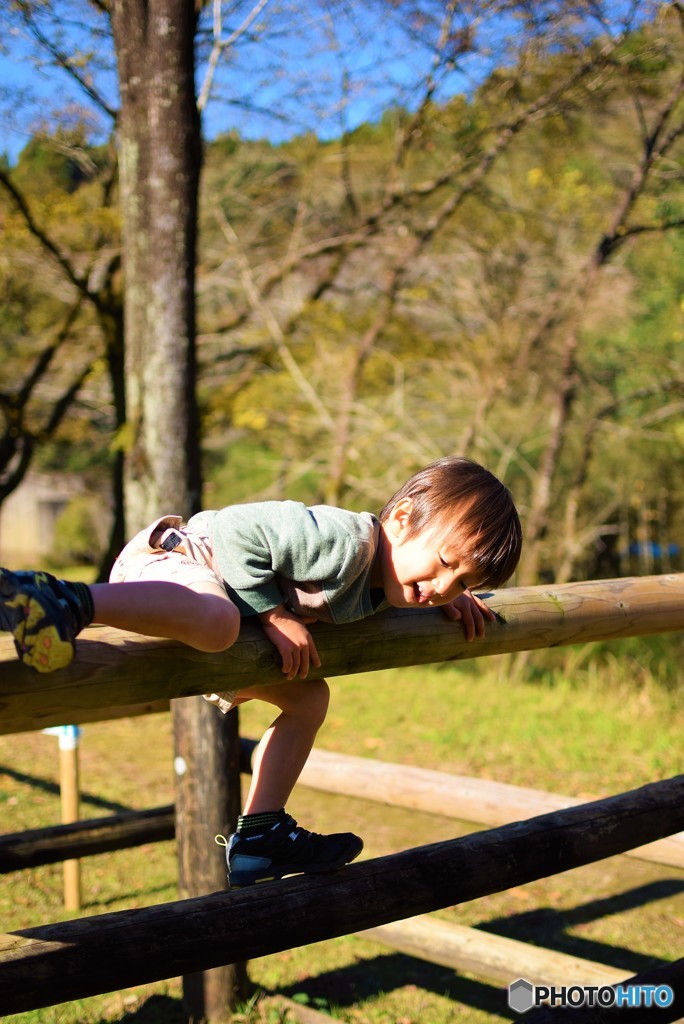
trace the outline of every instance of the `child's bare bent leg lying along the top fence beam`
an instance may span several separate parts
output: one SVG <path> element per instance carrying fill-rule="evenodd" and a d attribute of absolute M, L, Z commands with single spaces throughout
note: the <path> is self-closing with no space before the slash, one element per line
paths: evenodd
<path fill-rule="evenodd" d="M 219 584 L 163 581 L 93 584 L 94 621 L 145 636 L 180 640 L 198 650 L 230 647 L 240 612 Z"/>

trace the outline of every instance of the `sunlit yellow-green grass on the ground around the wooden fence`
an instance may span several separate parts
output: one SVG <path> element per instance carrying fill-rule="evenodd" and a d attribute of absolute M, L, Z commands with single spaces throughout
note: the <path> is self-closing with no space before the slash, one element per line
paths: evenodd
<path fill-rule="evenodd" d="M 628 654 L 639 660 L 633 644 Z M 524 674 L 509 669 L 506 658 L 489 658 L 334 680 L 319 745 L 587 799 L 682 771 L 684 716 L 672 686 L 656 684 L 648 673 L 623 678 L 614 654 L 592 659 L 571 649 L 553 671 L 533 663 Z M 243 733 L 257 735 L 269 717 L 263 706 L 245 706 Z M 171 761 L 168 715 L 86 726 L 80 751 L 83 816 L 170 802 Z M 0 737 L 5 830 L 59 819 L 57 777 L 53 737 Z M 368 857 L 473 829 L 304 787 L 290 808 L 316 830 L 359 831 Z M 82 914 L 173 900 L 175 876 L 171 843 L 84 860 Z M 683 893 L 684 871 L 616 857 L 438 915 L 636 972 L 678 955 Z M 0 909 L 7 932 L 69 916 L 61 909 L 60 865 L 4 876 Z M 250 977 L 257 990 L 296 997 L 349 1024 L 451 1024 L 457 1014 L 464 1024 L 509 1019 L 502 988 L 485 978 L 458 975 L 352 936 L 254 961 Z M 180 983 L 171 979 L 6 1019 L 180 1024 Z M 268 999 L 255 998 L 236 1014 L 245 1024 L 288 1019 Z"/>

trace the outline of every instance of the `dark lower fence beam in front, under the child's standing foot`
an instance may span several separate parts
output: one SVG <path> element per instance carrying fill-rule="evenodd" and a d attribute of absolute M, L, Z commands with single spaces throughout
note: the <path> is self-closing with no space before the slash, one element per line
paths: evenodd
<path fill-rule="evenodd" d="M 0 1011 L 191 974 L 477 899 L 684 827 L 684 775 L 529 821 L 161 906 L 0 938 Z"/>

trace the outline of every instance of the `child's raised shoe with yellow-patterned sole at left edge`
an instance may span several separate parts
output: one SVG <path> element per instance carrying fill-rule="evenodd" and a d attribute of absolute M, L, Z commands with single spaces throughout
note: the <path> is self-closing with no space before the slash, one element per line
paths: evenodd
<path fill-rule="evenodd" d="M 85 584 L 0 568 L 0 629 L 12 634 L 25 665 L 38 672 L 63 669 L 74 657 L 74 637 L 90 622 L 92 598 Z"/>

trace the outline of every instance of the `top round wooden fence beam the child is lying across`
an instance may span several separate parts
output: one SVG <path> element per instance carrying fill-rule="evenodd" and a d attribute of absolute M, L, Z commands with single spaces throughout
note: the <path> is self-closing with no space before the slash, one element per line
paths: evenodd
<path fill-rule="evenodd" d="M 349 626 L 312 627 L 326 676 L 459 662 L 509 651 L 614 640 L 684 629 L 684 573 L 501 590 L 488 596 L 498 622 L 466 642 L 439 609 L 391 610 Z M 182 644 L 106 627 L 86 630 L 78 655 L 40 675 L 16 660 L 0 637 L 0 731 L 79 723 L 95 709 L 139 705 L 211 689 L 279 683 L 274 648 L 245 623 L 228 651 L 205 654 Z"/>

